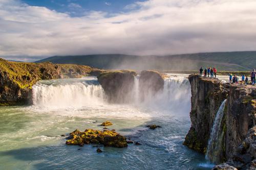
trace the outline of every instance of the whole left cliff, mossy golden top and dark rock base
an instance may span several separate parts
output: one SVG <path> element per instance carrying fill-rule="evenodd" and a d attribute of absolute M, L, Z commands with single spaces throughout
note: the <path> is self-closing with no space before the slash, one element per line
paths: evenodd
<path fill-rule="evenodd" d="M 31 102 L 32 86 L 39 80 L 86 76 L 89 66 L 12 62 L 0 58 L 0 105 L 23 105 Z"/>

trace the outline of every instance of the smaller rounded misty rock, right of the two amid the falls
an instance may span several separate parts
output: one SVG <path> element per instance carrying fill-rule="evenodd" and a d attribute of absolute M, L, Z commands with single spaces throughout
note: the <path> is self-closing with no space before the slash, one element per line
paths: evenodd
<path fill-rule="evenodd" d="M 157 71 L 143 70 L 140 73 L 139 91 L 143 101 L 148 95 L 154 95 L 164 86 L 164 79 Z"/>

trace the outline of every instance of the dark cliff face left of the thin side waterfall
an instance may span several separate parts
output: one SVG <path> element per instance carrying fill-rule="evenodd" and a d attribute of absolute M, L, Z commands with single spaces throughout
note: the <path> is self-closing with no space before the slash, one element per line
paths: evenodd
<path fill-rule="evenodd" d="M 218 80 L 204 80 L 197 75 L 189 76 L 191 85 L 191 127 L 184 145 L 206 153 L 210 130 L 221 103 L 226 99 L 228 86 Z"/>

